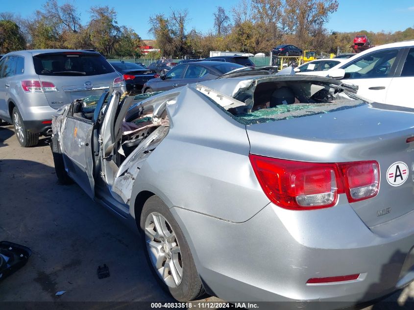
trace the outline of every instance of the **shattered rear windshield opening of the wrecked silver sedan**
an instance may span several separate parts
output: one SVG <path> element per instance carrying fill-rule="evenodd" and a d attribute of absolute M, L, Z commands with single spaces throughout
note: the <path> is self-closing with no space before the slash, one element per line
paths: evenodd
<path fill-rule="evenodd" d="M 197 89 L 244 125 L 332 113 L 368 103 L 341 82 L 316 76 L 269 76 L 246 82 L 233 91 L 233 97 L 202 85 Z"/>

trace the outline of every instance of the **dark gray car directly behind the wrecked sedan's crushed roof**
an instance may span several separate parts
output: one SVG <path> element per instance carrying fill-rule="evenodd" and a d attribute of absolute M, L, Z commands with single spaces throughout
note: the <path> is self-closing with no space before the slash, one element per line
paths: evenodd
<path fill-rule="evenodd" d="M 199 81 L 214 80 L 224 73 L 244 68 L 242 65 L 220 61 L 197 61 L 177 65 L 159 78 L 144 84 L 143 93 L 167 91 Z"/>

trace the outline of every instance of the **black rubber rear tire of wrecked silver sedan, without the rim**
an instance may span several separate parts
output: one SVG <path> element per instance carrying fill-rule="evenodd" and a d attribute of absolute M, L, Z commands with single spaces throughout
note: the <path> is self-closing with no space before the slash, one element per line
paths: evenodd
<path fill-rule="evenodd" d="M 168 223 L 170 224 L 170 228 L 175 233 L 175 238 L 177 239 L 179 248 L 181 250 L 181 262 L 184 268 L 182 269 L 183 271 L 181 283 L 176 287 L 167 286 L 167 284 L 158 275 L 149 257 L 146 245 L 147 243 L 145 237 L 145 226 L 147 216 L 154 212 L 161 214 L 168 221 Z M 146 260 L 149 264 L 149 268 L 151 269 L 152 274 L 154 275 L 158 283 L 163 287 L 163 289 L 170 292 L 172 297 L 180 302 L 195 300 L 197 297 L 200 297 L 203 294 L 205 294 L 204 287 L 195 268 L 195 263 L 193 260 L 193 256 L 190 252 L 190 247 L 188 246 L 188 243 L 184 238 L 184 235 L 180 227 L 178 226 L 178 223 L 171 215 L 170 210 L 158 196 L 151 196 L 146 200 L 146 203 L 144 204 L 144 208 L 141 213 L 140 227 L 142 231 L 141 238 L 144 246 Z"/>

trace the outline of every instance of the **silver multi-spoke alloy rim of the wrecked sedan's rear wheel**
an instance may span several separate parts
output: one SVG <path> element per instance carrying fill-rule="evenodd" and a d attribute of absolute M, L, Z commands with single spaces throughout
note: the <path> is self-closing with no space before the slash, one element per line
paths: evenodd
<path fill-rule="evenodd" d="M 160 213 L 153 212 L 146 217 L 145 240 L 158 276 L 167 286 L 179 286 L 183 278 L 180 246 L 170 223 Z"/>

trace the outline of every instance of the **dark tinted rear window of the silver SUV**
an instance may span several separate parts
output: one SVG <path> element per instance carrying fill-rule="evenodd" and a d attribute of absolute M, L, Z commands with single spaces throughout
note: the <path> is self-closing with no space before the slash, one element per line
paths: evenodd
<path fill-rule="evenodd" d="M 100 54 L 64 52 L 33 56 L 36 74 L 54 76 L 90 76 L 115 72 Z"/>

